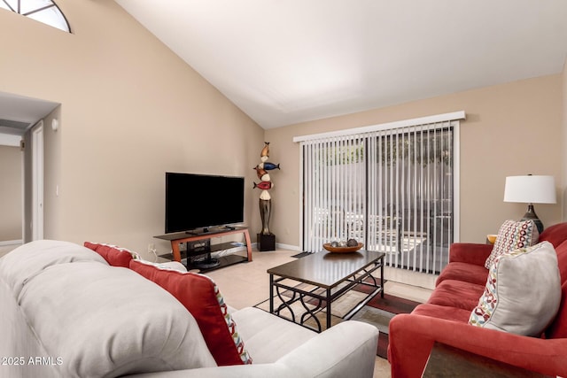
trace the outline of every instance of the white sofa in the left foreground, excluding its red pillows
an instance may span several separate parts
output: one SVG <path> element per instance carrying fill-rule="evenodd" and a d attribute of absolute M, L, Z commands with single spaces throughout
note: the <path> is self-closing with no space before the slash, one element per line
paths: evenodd
<path fill-rule="evenodd" d="M 217 366 L 196 320 L 154 282 L 58 241 L 0 258 L 0 377 L 370 377 L 377 328 L 317 334 L 256 308 L 231 312 L 252 365 Z"/>

